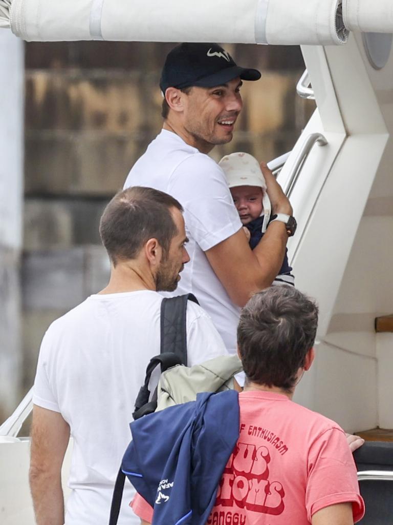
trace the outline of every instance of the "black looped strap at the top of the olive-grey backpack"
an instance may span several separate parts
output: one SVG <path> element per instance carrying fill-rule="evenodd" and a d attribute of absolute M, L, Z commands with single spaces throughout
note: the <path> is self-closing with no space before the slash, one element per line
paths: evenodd
<path fill-rule="evenodd" d="M 134 419 L 139 419 L 139 417 L 142 417 L 146 414 L 151 414 L 157 407 L 157 388 L 149 402 L 149 381 L 150 376 L 156 366 L 161 366 L 162 373 L 168 368 L 176 366 L 177 364 L 182 364 L 182 362 L 180 357 L 173 352 L 164 352 L 162 354 L 155 355 L 154 358 L 150 359 L 146 369 L 145 384 L 140 387 L 139 394 L 135 400 L 135 412 L 133 413 Z"/>

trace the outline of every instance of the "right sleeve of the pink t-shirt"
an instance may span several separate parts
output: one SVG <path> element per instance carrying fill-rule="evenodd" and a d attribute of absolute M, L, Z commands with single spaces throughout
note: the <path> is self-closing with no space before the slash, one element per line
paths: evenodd
<path fill-rule="evenodd" d="M 336 503 L 352 502 L 354 522 L 364 515 L 364 501 L 359 493 L 355 462 L 345 434 L 330 428 L 313 443 L 308 462 L 305 494 L 307 516 Z"/>

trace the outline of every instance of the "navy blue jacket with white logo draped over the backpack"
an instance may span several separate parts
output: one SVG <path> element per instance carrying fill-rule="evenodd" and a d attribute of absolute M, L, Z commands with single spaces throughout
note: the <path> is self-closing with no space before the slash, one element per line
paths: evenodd
<path fill-rule="evenodd" d="M 130 424 L 122 470 L 154 507 L 153 525 L 205 525 L 239 437 L 238 394 L 198 394 Z"/>

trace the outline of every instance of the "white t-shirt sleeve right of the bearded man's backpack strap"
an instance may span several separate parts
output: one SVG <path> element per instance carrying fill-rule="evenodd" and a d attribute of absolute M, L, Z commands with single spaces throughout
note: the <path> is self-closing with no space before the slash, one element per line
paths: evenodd
<path fill-rule="evenodd" d="M 198 304 L 187 304 L 188 366 L 228 355 L 224 341 L 213 321 Z"/>

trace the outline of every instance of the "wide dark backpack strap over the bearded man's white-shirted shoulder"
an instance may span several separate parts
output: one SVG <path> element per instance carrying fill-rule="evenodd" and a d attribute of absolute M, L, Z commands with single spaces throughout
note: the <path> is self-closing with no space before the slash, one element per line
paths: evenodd
<path fill-rule="evenodd" d="M 165 297 L 161 302 L 161 345 L 160 353 L 174 352 L 187 366 L 187 301 L 198 299 L 192 293 L 176 297 Z"/>

